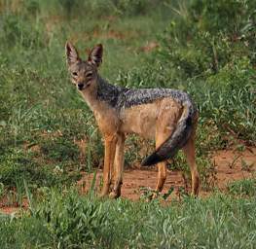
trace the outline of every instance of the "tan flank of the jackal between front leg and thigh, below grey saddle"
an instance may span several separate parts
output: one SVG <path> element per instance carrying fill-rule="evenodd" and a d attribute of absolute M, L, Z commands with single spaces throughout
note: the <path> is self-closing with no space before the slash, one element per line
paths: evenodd
<path fill-rule="evenodd" d="M 159 101 L 124 109 L 121 112 L 121 131 L 154 138 L 159 116 Z"/>

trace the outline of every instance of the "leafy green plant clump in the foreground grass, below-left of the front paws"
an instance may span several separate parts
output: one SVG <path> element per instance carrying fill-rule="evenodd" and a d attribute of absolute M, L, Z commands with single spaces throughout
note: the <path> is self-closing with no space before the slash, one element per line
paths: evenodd
<path fill-rule="evenodd" d="M 93 244 L 106 222 L 101 205 L 92 199 L 80 198 L 76 191 L 67 196 L 54 192 L 34 215 L 47 221 L 48 231 L 59 248 L 81 248 Z"/>

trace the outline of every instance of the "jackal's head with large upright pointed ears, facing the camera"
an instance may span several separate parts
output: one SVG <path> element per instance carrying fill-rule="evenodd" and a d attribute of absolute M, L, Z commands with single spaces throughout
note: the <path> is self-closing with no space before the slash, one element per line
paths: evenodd
<path fill-rule="evenodd" d="M 90 89 L 96 84 L 97 69 L 102 61 L 103 48 L 96 45 L 89 53 L 87 60 L 82 60 L 76 48 L 66 43 L 66 58 L 72 83 L 80 90 Z"/>

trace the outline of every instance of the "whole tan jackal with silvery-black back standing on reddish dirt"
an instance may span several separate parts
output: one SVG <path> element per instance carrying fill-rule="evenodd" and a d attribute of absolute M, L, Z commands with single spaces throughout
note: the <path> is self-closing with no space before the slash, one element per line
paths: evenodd
<path fill-rule="evenodd" d="M 158 165 L 158 192 L 165 183 L 165 160 L 182 149 L 191 169 L 192 194 L 197 196 L 200 184 L 195 162 L 198 110 L 190 96 L 176 89 L 127 89 L 110 85 L 98 74 L 103 55 L 100 44 L 91 50 L 86 61 L 70 43 L 66 43 L 65 50 L 72 82 L 91 107 L 105 141 L 101 196 L 121 196 L 128 133 L 155 138 L 156 151 L 143 160 L 142 165 Z"/>

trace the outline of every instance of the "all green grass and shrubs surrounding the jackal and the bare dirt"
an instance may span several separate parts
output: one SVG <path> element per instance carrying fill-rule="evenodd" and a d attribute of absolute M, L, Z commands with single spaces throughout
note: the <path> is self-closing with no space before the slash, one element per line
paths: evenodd
<path fill-rule="evenodd" d="M 102 163 L 103 148 L 91 111 L 68 79 L 64 44 L 70 40 L 85 58 L 102 43 L 101 75 L 112 83 L 192 94 L 201 112 L 198 164 L 206 188 L 212 150 L 255 145 L 255 6 L 0 0 L 0 197 L 31 197 L 30 213 L 0 216 L 0 247 L 253 248 L 254 180 L 228 187 L 237 200 L 185 197 L 169 207 L 68 191 L 81 171 Z M 128 140 L 127 166 L 141 161 L 144 145 Z M 181 154 L 175 162 L 187 171 Z"/>

